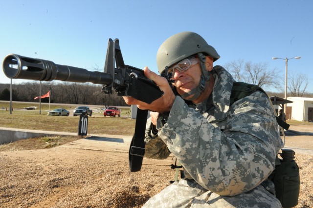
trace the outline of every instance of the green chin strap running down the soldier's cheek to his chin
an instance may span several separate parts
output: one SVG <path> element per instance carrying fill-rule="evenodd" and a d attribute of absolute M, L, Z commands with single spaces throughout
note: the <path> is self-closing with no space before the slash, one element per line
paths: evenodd
<path fill-rule="evenodd" d="M 201 92 L 205 89 L 205 82 L 210 80 L 210 73 L 209 71 L 206 70 L 205 67 L 205 56 L 202 53 L 198 53 L 198 58 L 200 60 L 200 65 L 201 65 L 201 79 L 199 82 L 199 85 L 197 88 L 194 88 L 190 90 L 189 92 L 185 92 L 181 95 L 181 98 L 187 101 L 193 101 L 197 98 L 199 98 Z M 191 98 L 188 98 L 189 96 L 193 95 Z M 188 98 L 188 99 L 187 99 Z"/>

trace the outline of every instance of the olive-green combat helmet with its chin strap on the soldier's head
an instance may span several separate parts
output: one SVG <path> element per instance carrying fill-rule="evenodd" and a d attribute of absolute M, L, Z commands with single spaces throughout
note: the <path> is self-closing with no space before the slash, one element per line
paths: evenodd
<path fill-rule="evenodd" d="M 202 76 L 198 87 L 181 95 L 183 99 L 195 94 L 188 100 L 199 97 L 205 87 L 205 81 L 210 78 L 210 72 L 205 68 L 205 55 L 213 58 L 213 62 L 220 58 L 216 50 L 209 45 L 199 34 L 194 32 L 181 32 L 165 40 L 156 54 L 158 72 L 161 74 L 166 66 L 171 66 L 191 55 L 197 54 L 201 64 Z"/>

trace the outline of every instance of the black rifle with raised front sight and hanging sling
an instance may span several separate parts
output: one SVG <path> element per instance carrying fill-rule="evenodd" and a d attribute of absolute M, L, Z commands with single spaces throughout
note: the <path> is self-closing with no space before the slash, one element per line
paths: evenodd
<path fill-rule="evenodd" d="M 114 67 L 114 61 L 116 67 Z M 152 80 L 144 76 L 143 70 L 125 65 L 119 46 L 119 40 L 109 39 L 104 72 L 55 64 L 54 62 L 9 54 L 3 61 L 3 72 L 10 79 L 35 81 L 53 81 L 102 84 L 102 91 L 118 96 L 130 96 L 151 104 L 163 95 L 163 91 Z M 161 74 L 171 82 L 171 73 L 165 70 Z M 135 132 L 129 151 L 130 171 L 139 171 L 144 156 L 144 133 L 148 110 L 137 111 Z M 133 163 L 134 162 L 134 163 Z"/>

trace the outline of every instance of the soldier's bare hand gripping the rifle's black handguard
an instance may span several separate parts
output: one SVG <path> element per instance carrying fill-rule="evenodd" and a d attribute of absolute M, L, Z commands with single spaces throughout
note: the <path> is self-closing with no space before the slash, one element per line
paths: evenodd
<path fill-rule="evenodd" d="M 143 69 L 143 71 L 148 79 L 154 81 L 156 85 L 159 86 L 159 88 L 164 92 L 164 95 L 151 104 L 138 101 L 132 97 L 123 97 L 126 104 L 135 104 L 142 110 L 151 110 L 159 113 L 170 111 L 175 101 L 175 95 L 168 81 L 164 77 L 158 76 L 156 73 L 150 71 L 147 66 Z"/>

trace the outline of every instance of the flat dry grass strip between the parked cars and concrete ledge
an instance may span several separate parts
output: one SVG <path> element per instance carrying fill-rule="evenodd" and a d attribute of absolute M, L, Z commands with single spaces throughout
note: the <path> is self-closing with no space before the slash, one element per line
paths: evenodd
<path fill-rule="evenodd" d="M 46 131 L 77 132 L 79 117 L 47 116 L 23 111 L 0 113 L 0 126 Z M 125 117 L 88 117 L 89 134 L 133 135 L 135 120 Z"/>

